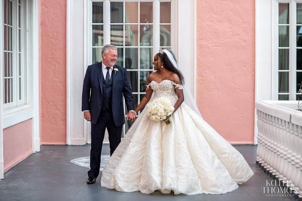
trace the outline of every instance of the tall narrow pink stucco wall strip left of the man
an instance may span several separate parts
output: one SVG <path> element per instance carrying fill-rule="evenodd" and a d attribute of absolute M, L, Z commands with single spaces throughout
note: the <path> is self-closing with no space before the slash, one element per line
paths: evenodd
<path fill-rule="evenodd" d="M 66 144 L 66 1 L 39 1 L 41 144 Z"/>

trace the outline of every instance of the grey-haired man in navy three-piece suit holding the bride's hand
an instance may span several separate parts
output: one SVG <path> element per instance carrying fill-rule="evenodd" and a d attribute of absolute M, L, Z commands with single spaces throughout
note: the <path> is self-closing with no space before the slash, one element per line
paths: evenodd
<path fill-rule="evenodd" d="M 115 65 L 117 48 L 105 45 L 102 50 L 102 62 L 88 66 L 82 92 L 82 111 L 84 118 L 91 121 L 90 170 L 87 183 L 95 183 L 100 172 L 101 152 L 107 128 L 110 155 L 121 142 L 125 123 L 123 99 L 128 109 L 127 120 L 134 121 L 132 90 L 127 70 Z"/>

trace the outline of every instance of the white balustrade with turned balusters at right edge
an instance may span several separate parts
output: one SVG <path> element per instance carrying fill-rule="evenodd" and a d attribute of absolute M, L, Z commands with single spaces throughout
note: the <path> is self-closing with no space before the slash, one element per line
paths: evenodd
<path fill-rule="evenodd" d="M 302 200 L 302 112 L 296 101 L 256 102 L 256 163 Z"/>

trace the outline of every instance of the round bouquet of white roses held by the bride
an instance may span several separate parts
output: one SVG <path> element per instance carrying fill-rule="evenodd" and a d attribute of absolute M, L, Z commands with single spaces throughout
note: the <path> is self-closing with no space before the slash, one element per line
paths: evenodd
<path fill-rule="evenodd" d="M 167 116 L 172 115 L 173 111 L 174 107 L 172 105 L 172 102 L 166 97 L 157 98 L 147 104 L 148 116 L 155 122 L 166 119 Z"/>

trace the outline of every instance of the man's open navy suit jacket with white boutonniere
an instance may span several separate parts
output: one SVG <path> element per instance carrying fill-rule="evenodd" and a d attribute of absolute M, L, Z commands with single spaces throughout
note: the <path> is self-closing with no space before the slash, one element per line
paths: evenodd
<path fill-rule="evenodd" d="M 114 65 L 112 70 L 112 114 L 115 126 L 122 126 L 125 123 L 123 98 L 128 111 L 134 110 L 134 103 L 132 97 L 132 90 L 127 76 L 126 68 Z M 88 66 L 82 93 L 82 111 L 90 111 L 92 116 L 92 123 L 96 124 L 101 114 L 102 100 L 103 100 L 103 71 L 102 62 Z"/>

